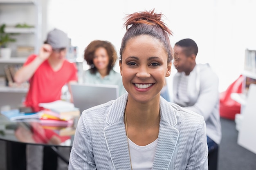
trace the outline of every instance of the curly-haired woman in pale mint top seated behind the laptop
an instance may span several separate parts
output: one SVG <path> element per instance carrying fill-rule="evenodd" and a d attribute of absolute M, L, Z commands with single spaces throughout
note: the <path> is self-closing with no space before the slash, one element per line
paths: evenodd
<path fill-rule="evenodd" d="M 118 85 L 119 95 L 126 93 L 121 74 L 113 70 L 117 60 L 117 52 L 110 42 L 92 41 L 85 48 L 84 59 L 91 66 L 84 72 L 84 83 Z"/>

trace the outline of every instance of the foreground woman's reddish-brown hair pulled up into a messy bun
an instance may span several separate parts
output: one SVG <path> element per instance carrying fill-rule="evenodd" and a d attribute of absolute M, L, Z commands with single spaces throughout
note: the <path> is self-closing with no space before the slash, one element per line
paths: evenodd
<path fill-rule="evenodd" d="M 171 62 L 173 56 L 169 36 L 172 35 L 172 31 L 168 29 L 166 24 L 161 20 L 163 14 L 155 13 L 154 11 L 155 9 L 151 11 L 136 12 L 126 17 L 127 20 L 124 23 L 126 33 L 122 39 L 121 48 L 119 51 L 121 60 L 122 53 L 128 40 L 139 35 L 150 35 L 157 38 L 164 44 L 164 48 L 168 55 L 168 63 Z"/>

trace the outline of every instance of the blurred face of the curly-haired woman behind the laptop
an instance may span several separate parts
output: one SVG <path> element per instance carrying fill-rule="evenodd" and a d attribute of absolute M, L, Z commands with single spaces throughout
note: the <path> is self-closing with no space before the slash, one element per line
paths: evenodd
<path fill-rule="evenodd" d="M 97 70 L 107 69 L 109 63 L 107 50 L 103 47 L 99 47 L 98 49 L 96 49 L 92 62 Z"/>

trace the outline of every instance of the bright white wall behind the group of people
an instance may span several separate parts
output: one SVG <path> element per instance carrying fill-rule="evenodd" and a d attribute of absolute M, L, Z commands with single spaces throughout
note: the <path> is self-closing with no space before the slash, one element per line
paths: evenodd
<path fill-rule="evenodd" d="M 219 90 L 224 91 L 243 71 L 245 49 L 256 49 L 255 7 L 253 0 L 48 0 L 47 31 L 54 27 L 66 31 L 80 56 L 95 39 L 108 40 L 119 51 L 125 14 L 155 8 L 173 31 L 171 44 L 183 38 L 195 40 L 197 62 L 212 66 L 220 79 Z"/>

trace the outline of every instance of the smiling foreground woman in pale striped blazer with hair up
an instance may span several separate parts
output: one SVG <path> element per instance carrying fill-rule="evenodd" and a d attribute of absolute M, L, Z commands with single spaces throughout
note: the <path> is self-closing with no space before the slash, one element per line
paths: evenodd
<path fill-rule="evenodd" d="M 70 170 L 207 170 L 204 118 L 160 96 L 171 30 L 154 10 L 128 15 L 119 62 L 128 93 L 84 110 Z"/>

